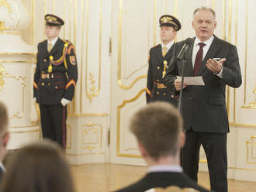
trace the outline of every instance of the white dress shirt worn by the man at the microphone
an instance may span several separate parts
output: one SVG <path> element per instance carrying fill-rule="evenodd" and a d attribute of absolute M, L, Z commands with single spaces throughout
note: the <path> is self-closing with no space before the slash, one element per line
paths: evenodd
<path fill-rule="evenodd" d="M 199 51 L 199 48 L 200 48 L 199 43 L 205 43 L 206 44 L 202 48 L 202 60 L 203 60 L 206 57 L 206 53 L 209 50 L 209 46 L 211 46 L 211 44 L 213 43 L 213 39 L 214 39 L 214 36 L 212 36 L 211 38 L 202 42 L 197 37 L 195 37 L 195 42 L 194 42 L 194 45 L 193 45 L 193 52 L 192 52 L 192 66 L 193 66 L 193 69 L 194 69 L 194 66 L 195 66 L 195 57 L 196 57 L 196 54 L 197 54 L 197 52 Z M 213 59 L 213 58 L 211 58 L 211 59 Z M 222 78 L 222 71 L 223 71 L 223 67 L 220 70 L 220 73 L 216 74 L 216 76 Z M 213 73 L 213 74 L 215 74 L 215 73 Z"/>

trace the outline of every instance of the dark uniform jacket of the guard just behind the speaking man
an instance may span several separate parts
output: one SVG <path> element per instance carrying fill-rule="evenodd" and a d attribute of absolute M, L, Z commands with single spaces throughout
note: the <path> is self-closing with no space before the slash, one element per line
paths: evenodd
<path fill-rule="evenodd" d="M 173 48 L 174 45 L 171 46 L 164 57 L 162 55 L 162 46 L 160 44 L 150 49 L 147 71 L 147 103 L 151 101 L 168 101 L 172 105 L 176 106 L 177 104 L 177 98 L 173 98 L 171 91 L 169 91 L 167 87 L 157 88 L 157 83 L 164 84 L 164 78 L 162 77 L 164 60 L 167 63 L 170 63 Z"/>

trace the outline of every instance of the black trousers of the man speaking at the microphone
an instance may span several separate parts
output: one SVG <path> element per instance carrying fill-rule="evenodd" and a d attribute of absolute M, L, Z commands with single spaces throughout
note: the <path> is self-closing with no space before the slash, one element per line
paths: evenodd
<path fill-rule="evenodd" d="M 182 167 L 185 173 L 197 181 L 199 149 L 206 152 L 211 190 L 227 192 L 227 133 L 186 131 L 182 149 Z"/>

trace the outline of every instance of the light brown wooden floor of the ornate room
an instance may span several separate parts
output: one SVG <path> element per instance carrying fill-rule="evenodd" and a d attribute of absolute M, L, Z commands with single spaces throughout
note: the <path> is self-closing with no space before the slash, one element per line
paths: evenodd
<path fill-rule="evenodd" d="M 85 164 L 71 166 L 77 192 L 104 192 L 125 187 L 143 177 L 147 172 L 144 166 L 117 164 Z M 208 173 L 199 173 L 199 184 L 209 189 Z M 255 192 L 256 183 L 229 180 L 229 192 Z"/>

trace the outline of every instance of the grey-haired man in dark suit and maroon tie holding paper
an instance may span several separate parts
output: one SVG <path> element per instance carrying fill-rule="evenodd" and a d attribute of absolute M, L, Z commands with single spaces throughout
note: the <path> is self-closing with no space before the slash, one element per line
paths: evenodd
<path fill-rule="evenodd" d="M 236 46 L 213 35 L 216 18 L 213 9 L 195 9 L 192 21 L 195 38 L 186 53 L 185 76 L 202 76 L 205 86 L 186 86 L 182 97 L 182 115 L 185 120 L 186 142 L 182 150 L 182 167 L 197 180 L 199 147 L 206 152 L 212 190 L 227 191 L 227 132 L 229 122 L 225 102 L 226 85 L 239 87 L 240 65 Z M 182 61 L 177 61 L 185 41 L 176 43 L 174 60 L 168 68 L 165 84 L 171 90 L 181 90 Z"/>

